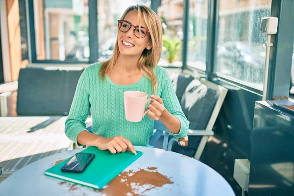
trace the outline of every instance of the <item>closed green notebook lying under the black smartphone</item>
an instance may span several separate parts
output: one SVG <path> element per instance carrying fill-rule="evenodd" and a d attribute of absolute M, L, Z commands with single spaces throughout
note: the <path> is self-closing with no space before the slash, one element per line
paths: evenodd
<path fill-rule="evenodd" d="M 71 159 L 53 166 L 45 171 L 45 175 L 60 178 L 76 184 L 85 185 L 95 189 L 101 189 L 125 168 L 142 156 L 141 151 L 137 155 L 131 151 L 112 154 L 109 150 L 99 150 L 97 147 L 88 147 L 81 151 L 95 154 L 95 158 L 82 173 L 61 172 L 61 168 Z"/>

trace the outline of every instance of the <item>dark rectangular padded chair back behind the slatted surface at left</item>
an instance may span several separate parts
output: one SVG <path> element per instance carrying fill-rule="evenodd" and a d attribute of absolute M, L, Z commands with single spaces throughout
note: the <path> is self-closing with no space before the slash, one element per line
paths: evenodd
<path fill-rule="evenodd" d="M 83 69 L 25 68 L 18 80 L 19 116 L 67 116 Z"/>

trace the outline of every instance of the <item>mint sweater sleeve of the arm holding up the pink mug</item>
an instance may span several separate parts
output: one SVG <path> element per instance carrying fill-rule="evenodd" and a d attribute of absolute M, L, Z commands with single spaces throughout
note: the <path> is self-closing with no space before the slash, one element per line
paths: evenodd
<path fill-rule="evenodd" d="M 182 111 L 181 105 L 176 97 L 173 90 L 172 80 L 166 70 L 163 69 L 162 76 L 162 92 L 161 98 L 163 100 L 165 108 L 175 117 L 177 117 L 181 123 L 180 132 L 178 134 L 173 134 L 177 138 L 184 138 L 189 129 L 188 120 Z"/>

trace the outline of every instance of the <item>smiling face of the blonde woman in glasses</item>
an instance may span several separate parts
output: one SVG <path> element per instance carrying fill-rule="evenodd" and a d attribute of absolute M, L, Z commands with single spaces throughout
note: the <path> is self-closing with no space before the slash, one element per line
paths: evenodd
<path fill-rule="evenodd" d="M 143 16 L 141 16 L 141 27 L 144 26 L 147 29 L 147 25 L 144 21 Z M 120 53 L 123 55 L 128 55 L 128 56 L 141 56 L 142 52 L 144 49 L 151 49 L 152 44 L 151 44 L 151 39 L 150 35 L 147 31 L 145 37 L 144 36 L 144 30 L 139 31 L 139 27 L 136 28 L 136 31 L 140 32 L 142 37 L 138 38 L 134 34 L 134 26 L 138 26 L 138 11 L 130 11 L 129 13 L 126 14 L 124 17 L 124 21 L 127 21 L 131 24 L 129 27 L 130 29 L 127 32 L 123 32 L 119 30 L 118 34 L 118 46 L 120 49 Z M 127 24 L 127 23 L 123 23 Z M 127 27 L 127 25 L 124 25 Z M 148 30 L 148 29 L 147 29 Z"/>

